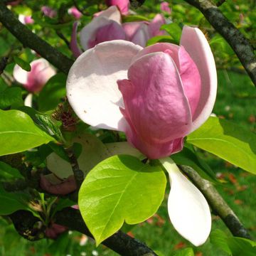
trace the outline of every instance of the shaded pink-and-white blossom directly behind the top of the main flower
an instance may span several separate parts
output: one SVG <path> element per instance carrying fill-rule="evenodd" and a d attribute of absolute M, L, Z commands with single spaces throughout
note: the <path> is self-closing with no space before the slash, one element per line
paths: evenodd
<path fill-rule="evenodd" d="M 149 38 L 164 34 L 164 31 L 160 31 L 164 23 L 161 14 L 157 14 L 150 23 L 146 21 L 121 23 L 121 14 L 117 6 L 110 6 L 107 10 L 95 14 L 92 21 L 82 28 L 80 42 L 84 50 L 93 48 L 98 43 L 117 39 L 131 41 L 144 47 Z M 73 26 L 70 42 L 70 49 L 75 57 L 80 52 L 76 31 L 77 24 Z"/>

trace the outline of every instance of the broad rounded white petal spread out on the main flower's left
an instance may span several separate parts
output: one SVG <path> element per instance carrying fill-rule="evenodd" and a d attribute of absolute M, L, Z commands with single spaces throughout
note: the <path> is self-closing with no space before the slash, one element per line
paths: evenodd
<path fill-rule="evenodd" d="M 75 60 L 67 80 L 71 107 L 83 122 L 103 129 L 124 131 L 127 122 L 117 80 L 127 78 L 127 70 L 141 46 L 128 41 L 107 41 L 86 50 Z"/>

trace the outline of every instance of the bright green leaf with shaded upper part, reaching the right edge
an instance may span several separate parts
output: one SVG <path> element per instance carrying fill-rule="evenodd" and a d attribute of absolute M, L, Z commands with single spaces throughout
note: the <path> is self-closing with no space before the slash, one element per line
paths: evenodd
<path fill-rule="evenodd" d="M 210 117 L 186 142 L 256 174 L 256 135 L 233 122 Z"/>

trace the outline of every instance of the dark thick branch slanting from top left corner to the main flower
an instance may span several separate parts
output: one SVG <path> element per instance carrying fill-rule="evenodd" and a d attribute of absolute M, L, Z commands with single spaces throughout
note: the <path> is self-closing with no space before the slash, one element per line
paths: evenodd
<path fill-rule="evenodd" d="M 5 6 L 4 2 L 0 0 L 0 21 L 1 23 L 20 41 L 23 46 L 29 47 L 40 54 L 43 58 L 46 58 L 50 63 L 55 65 L 56 68 L 68 73 L 73 60 L 66 57 L 58 50 L 50 46 L 46 41 L 36 36 L 25 25 L 23 25 L 12 14 L 12 12 Z"/>

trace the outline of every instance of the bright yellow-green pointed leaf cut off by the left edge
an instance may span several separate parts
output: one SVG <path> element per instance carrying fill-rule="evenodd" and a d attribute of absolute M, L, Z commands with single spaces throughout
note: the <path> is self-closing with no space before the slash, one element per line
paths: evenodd
<path fill-rule="evenodd" d="M 19 110 L 0 110 L 0 156 L 25 151 L 53 141 Z"/>

